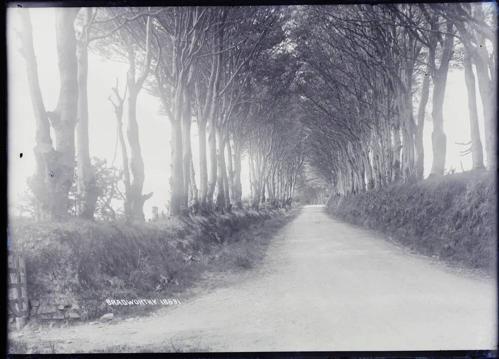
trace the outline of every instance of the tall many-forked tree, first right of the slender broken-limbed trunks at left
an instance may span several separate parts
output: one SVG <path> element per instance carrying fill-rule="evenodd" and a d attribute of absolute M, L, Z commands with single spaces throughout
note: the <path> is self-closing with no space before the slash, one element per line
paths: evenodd
<path fill-rule="evenodd" d="M 193 62 L 203 46 L 206 9 L 181 7 L 158 19 L 167 36 L 156 37 L 158 55 L 155 67 L 158 94 L 170 120 L 171 177 L 170 215 L 186 213 L 191 179 L 191 90 Z M 171 26 L 176 23 L 177 26 Z M 165 41 L 168 40 L 168 41 Z M 166 57 L 166 51 L 170 50 Z M 185 110 L 184 110 L 185 107 Z M 184 133 L 183 133 L 184 128 Z M 194 176 L 194 173 L 192 173 Z"/>

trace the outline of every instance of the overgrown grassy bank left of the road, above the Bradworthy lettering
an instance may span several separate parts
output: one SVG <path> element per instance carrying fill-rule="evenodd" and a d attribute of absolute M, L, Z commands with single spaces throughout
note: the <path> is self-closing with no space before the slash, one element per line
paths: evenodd
<path fill-rule="evenodd" d="M 10 247 L 24 247 L 30 299 L 53 295 L 40 278 L 64 263 L 82 320 L 145 314 L 161 306 L 108 306 L 105 300 L 179 298 L 206 271 L 249 269 L 295 212 L 236 211 L 142 224 L 10 223 Z"/>

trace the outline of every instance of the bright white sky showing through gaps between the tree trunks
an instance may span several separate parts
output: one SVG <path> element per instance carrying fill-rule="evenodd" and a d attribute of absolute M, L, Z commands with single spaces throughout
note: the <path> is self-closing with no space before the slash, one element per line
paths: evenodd
<path fill-rule="evenodd" d="M 17 11 L 25 9 L 7 9 L 7 96 L 8 96 L 8 177 L 7 196 L 9 210 L 15 209 L 21 194 L 27 189 L 26 180 L 33 173 L 35 162 L 33 147 L 35 146 L 34 115 L 27 85 L 24 58 L 18 51 L 20 42 L 15 29 L 19 29 Z M 38 63 L 40 88 L 47 111 L 55 108 L 59 94 L 59 72 L 57 68 L 57 53 L 55 44 L 55 24 L 53 8 L 30 9 L 33 24 L 33 43 Z M 88 58 L 88 111 L 89 111 L 89 146 L 90 157 L 106 158 L 111 163 L 116 145 L 116 117 L 108 100 L 112 93 L 111 87 L 119 80 L 121 94 L 125 85 L 128 65 L 122 62 L 105 60 L 102 57 L 89 54 Z M 477 86 L 477 105 L 479 126 L 482 142 L 485 146 L 484 119 L 482 104 Z M 153 206 L 161 210 L 169 199 L 170 189 L 170 125 L 165 115 L 158 115 L 159 99 L 142 90 L 137 101 L 137 120 L 139 124 L 139 139 L 144 159 L 145 181 L 143 193 L 154 192 L 151 199 L 144 205 L 146 218 L 151 217 Z M 427 121 L 425 123 L 423 142 L 425 148 L 425 177 L 432 165 L 431 146 L 431 104 L 427 106 Z M 123 114 L 126 128 L 126 101 Z M 465 170 L 472 167 L 471 154 L 461 157 L 464 146 L 455 142 L 470 141 L 470 124 L 468 112 L 468 96 L 464 82 L 464 71 L 452 69 L 449 72 L 444 100 L 444 131 L 447 135 L 446 168 L 451 166 L 456 172 L 461 171 L 461 162 Z M 55 136 L 52 135 L 55 145 Z M 199 147 L 197 127 L 192 127 L 193 161 L 195 169 L 199 168 Z M 22 158 L 19 154 L 22 153 Z M 484 157 L 485 148 L 484 148 Z M 118 149 L 114 165 L 121 168 L 121 156 Z M 208 161 L 209 166 L 209 161 Z M 243 196 L 248 195 L 248 165 L 242 166 Z M 199 171 L 196 171 L 199 172 Z M 196 173 L 199 186 L 199 173 Z"/>

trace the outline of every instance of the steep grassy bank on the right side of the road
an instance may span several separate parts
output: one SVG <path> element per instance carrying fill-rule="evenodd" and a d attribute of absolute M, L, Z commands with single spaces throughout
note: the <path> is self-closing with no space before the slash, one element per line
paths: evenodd
<path fill-rule="evenodd" d="M 420 253 L 496 272 L 495 173 L 466 172 L 332 196 L 327 207 L 336 217 L 391 235 Z"/>

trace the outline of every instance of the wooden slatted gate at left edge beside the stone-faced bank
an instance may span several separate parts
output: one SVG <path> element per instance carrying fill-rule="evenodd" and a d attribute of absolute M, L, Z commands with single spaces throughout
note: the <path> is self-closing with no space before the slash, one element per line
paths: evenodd
<path fill-rule="evenodd" d="M 22 251 L 7 250 L 8 263 L 8 309 L 16 318 L 28 316 L 28 293 L 26 266 Z"/>

